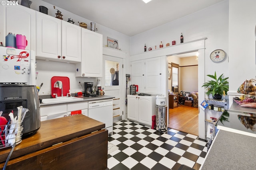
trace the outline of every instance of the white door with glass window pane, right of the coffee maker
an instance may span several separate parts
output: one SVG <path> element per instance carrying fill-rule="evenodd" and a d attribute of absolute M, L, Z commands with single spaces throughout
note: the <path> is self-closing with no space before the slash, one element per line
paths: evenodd
<path fill-rule="evenodd" d="M 123 92 L 123 59 L 103 55 L 103 77 L 101 86 L 105 95 L 115 96 L 113 99 L 113 118 L 123 117 L 124 95 Z"/>

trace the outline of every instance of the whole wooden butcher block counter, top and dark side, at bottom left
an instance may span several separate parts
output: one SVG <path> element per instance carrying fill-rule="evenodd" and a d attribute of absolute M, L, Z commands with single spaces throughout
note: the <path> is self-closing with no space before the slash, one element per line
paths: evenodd
<path fill-rule="evenodd" d="M 108 131 L 104 127 L 82 114 L 42 121 L 34 135 L 16 145 L 6 170 L 105 170 Z M 0 149 L 0 169 L 11 149 Z"/>

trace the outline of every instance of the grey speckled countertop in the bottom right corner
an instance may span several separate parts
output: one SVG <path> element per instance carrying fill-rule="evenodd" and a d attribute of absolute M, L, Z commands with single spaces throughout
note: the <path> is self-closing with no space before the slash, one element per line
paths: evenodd
<path fill-rule="evenodd" d="M 255 170 L 256 138 L 219 130 L 201 170 Z"/>

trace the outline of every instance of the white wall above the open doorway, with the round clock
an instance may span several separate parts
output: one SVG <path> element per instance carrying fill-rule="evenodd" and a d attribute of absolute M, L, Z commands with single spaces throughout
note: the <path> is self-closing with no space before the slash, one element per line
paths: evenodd
<path fill-rule="evenodd" d="M 145 43 L 147 47 L 156 45 L 157 50 L 162 50 L 159 49 L 161 41 L 165 46 L 166 43 L 172 44 L 172 41 L 176 40 L 178 45 L 181 32 L 184 36 L 184 43 L 207 38 L 206 74 L 213 74 L 216 70 L 217 74 L 224 73 L 224 76 L 228 76 L 228 59 L 222 63 L 213 63 L 210 60 L 210 53 L 215 49 L 223 49 L 228 54 L 228 0 L 131 37 L 131 55 L 144 53 Z M 153 51 L 156 50 L 152 48 L 152 51 L 148 53 Z"/>

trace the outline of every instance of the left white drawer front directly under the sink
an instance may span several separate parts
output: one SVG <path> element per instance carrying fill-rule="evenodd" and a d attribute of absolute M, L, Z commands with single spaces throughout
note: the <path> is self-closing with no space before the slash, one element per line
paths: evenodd
<path fill-rule="evenodd" d="M 41 116 L 55 115 L 59 113 L 67 113 L 67 104 L 40 107 Z"/>

